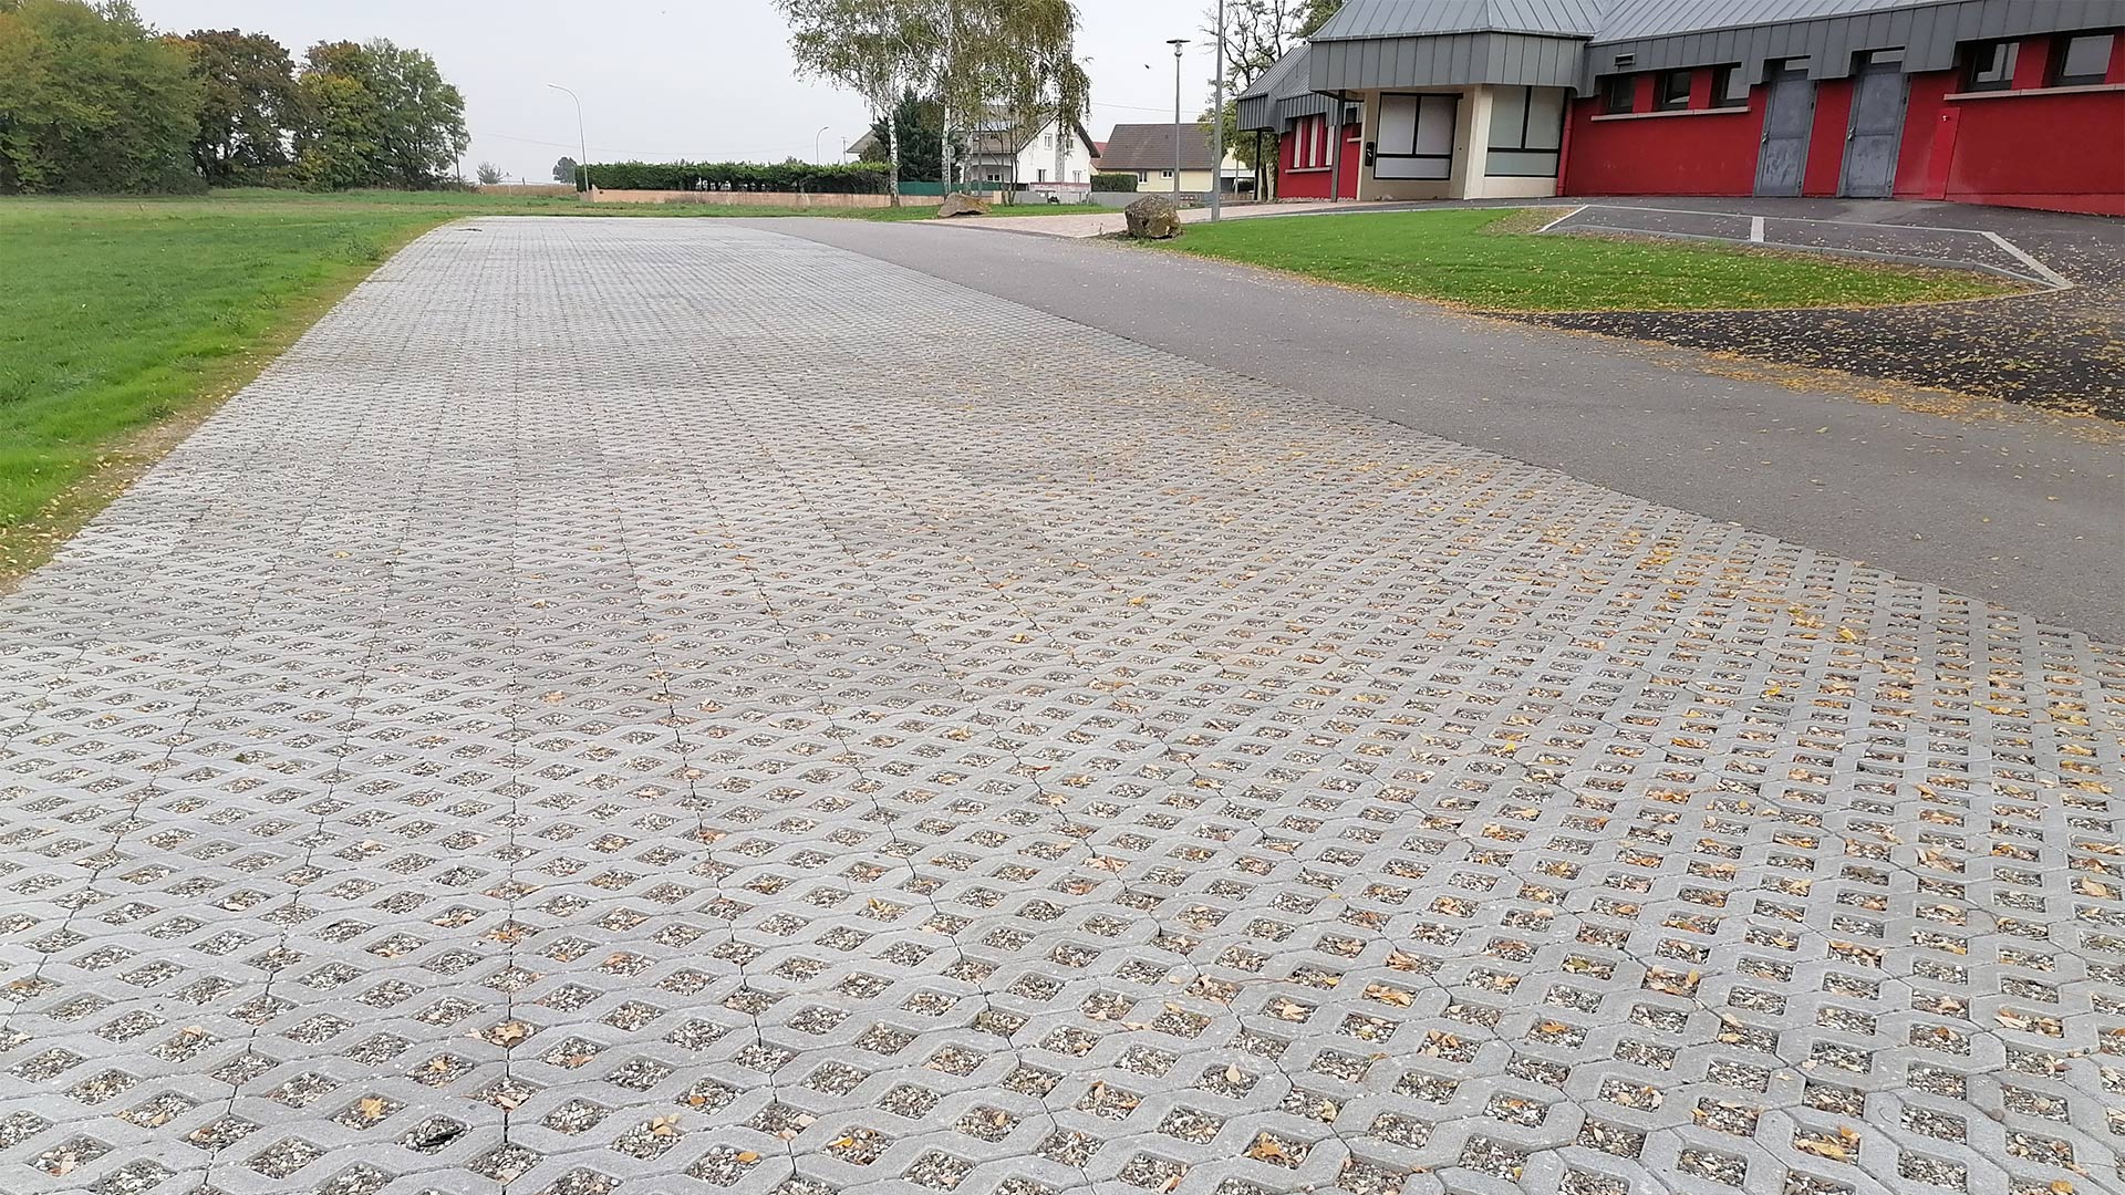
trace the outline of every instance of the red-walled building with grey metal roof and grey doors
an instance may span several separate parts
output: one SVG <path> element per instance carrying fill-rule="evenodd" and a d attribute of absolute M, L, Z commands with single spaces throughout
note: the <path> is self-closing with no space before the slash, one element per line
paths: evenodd
<path fill-rule="evenodd" d="M 1279 196 L 2125 215 L 2125 2 L 1349 0 L 1241 128 L 1277 134 Z"/>

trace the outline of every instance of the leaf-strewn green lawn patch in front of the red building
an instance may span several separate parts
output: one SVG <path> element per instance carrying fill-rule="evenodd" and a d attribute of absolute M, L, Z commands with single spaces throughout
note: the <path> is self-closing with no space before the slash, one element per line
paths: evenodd
<path fill-rule="evenodd" d="M 1167 249 L 1490 310 L 1689 310 L 1957 300 L 1976 272 L 1674 240 L 1534 236 L 1556 213 L 1458 208 L 1190 223 Z"/>

